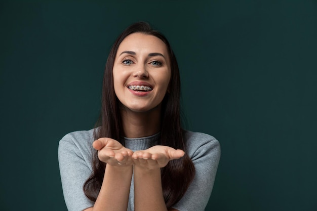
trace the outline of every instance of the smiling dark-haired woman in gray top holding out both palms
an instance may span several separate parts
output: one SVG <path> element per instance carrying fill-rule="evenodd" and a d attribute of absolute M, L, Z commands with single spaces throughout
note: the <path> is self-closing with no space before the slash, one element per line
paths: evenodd
<path fill-rule="evenodd" d="M 182 130 L 179 101 L 168 40 L 147 23 L 129 26 L 107 60 L 99 127 L 59 143 L 68 210 L 204 210 L 220 146 Z"/>

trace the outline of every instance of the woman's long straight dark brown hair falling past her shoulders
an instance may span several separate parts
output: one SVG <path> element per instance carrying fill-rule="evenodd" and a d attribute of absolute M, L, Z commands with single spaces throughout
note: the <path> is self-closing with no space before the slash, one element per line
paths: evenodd
<path fill-rule="evenodd" d="M 102 109 L 99 121 L 94 131 L 94 139 L 108 137 L 122 141 L 123 127 L 120 114 L 120 102 L 113 89 L 113 63 L 117 49 L 121 42 L 132 33 L 144 33 L 160 38 L 166 45 L 171 61 L 171 80 L 169 93 L 163 99 L 161 111 L 161 140 L 160 144 L 175 149 L 182 149 L 185 155 L 177 160 L 171 160 L 167 166 L 161 169 L 162 188 L 166 206 L 169 208 L 178 202 L 186 192 L 194 175 L 195 168 L 186 153 L 186 143 L 183 139 L 183 130 L 180 120 L 180 76 L 176 57 L 166 37 L 160 32 L 153 30 L 148 23 L 139 22 L 132 24 L 116 39 L 109 53 L 102 87 Z M 112 89 L 109 89 L 109 87 Z M 96 201 L 100 191 L 106 163 L 100 161 L 97 151 L 93 154 L 93 173 L 84 184 L 86 196 Z"/>

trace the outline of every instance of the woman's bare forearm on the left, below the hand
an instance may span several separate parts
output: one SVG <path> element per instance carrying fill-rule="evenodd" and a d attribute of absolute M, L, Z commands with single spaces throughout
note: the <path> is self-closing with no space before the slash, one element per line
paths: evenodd
<path fill-rule="evenodd" d="M 107 165 L 94 211 L 127 210 L 133 166 Z"/>

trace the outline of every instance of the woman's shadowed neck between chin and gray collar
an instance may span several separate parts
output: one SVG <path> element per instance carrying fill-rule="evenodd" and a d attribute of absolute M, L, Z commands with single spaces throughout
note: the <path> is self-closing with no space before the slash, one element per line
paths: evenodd
<path fill-rule="evenodd" d="M 121 110 L 124 135 L 127 138 L 140 138 L 159 133 L 161 130 L 161 106 L 146 112 Z"/>

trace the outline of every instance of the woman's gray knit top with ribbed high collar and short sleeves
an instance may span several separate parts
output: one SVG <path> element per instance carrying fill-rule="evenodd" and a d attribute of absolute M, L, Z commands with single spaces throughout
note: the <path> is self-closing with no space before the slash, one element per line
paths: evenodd
<path fill-rule="evenodd" d="M 160 134 L 149 137 L 125 138 L 127 148 L 144 150 L 157 144 Z M 203 133 L 185 132 L 187 154 L 196 174 L 182 199 L 173 207 L 180 211 L 203 211 L 208 203 L 220 159 L 219 142 Z M 94 205 L 84 194 L 83 185 L 92 173 L 93 130 L 67 134 L 60 140 L 58 160 L 65 202 L 69 211 L 81 211 Z M 128 211 L 134 210 L 133 179 Z"/>

